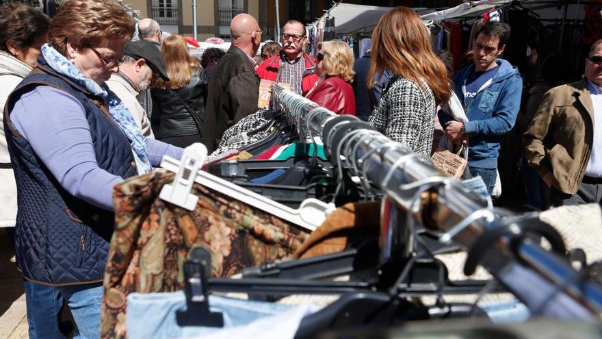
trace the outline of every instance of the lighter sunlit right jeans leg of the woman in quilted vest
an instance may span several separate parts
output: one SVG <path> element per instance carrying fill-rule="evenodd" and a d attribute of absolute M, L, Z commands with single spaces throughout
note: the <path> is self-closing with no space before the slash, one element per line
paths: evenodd
<path fill-rule="evenodd" d="M 73 314 L 77 330 L 73 338 L 95 339 L 100 337 L 103 285 L 86 284 L 57 287 Z"/>

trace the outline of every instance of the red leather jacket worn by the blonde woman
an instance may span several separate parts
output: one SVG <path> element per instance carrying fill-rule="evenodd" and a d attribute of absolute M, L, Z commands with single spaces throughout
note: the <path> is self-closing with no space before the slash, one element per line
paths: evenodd
<path fill-rule="evenodd" d="M 306 98 L 337 114 L 355 115 L 353 87 L 340 77 L 322 80 Z"/>

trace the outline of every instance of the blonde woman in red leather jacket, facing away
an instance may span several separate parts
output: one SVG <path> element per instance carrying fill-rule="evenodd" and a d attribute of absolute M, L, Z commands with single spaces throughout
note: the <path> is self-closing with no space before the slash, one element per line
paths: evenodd
<path fill-rule="evenodd" d="M 345 42 L 318 44 L 317 71 L 320 79 L 306 98 L 337 114 L 355 115 L 353 52 Z"/>

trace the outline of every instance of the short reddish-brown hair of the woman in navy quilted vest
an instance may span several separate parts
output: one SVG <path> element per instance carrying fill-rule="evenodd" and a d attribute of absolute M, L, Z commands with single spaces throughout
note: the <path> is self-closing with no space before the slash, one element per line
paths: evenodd
<path fill-rule="evenodd" d="M 67 40 L 81 48 L 96 47 L 105 40 L 131 39 L 134 23 L 115 0 L 69 0 L 52 19 L 49 43 L 63 55 Z"/>

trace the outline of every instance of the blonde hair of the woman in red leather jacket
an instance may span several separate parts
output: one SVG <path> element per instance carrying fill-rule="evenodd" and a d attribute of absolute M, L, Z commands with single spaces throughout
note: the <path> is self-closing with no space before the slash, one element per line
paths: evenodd
<path fill-rule="evenodd" d="M 347 82 L 353 81 L 353 51 L 345 42 L 330 40 L 320 42 L 318 49 L 324 52 L 322 69 L 331 77 L 341 77 Z"/>

